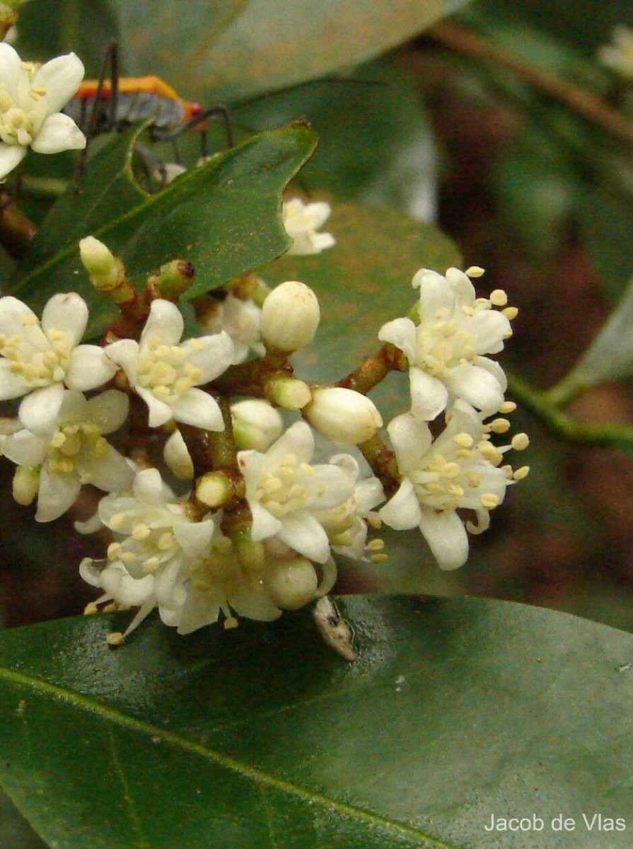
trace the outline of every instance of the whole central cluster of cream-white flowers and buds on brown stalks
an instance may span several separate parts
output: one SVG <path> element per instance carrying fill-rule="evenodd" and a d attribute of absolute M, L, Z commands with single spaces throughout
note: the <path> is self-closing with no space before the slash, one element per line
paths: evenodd
<path fill-rule="evenodd" d="M 480 269 L 420 270 L 411 316 L 379 330 L 382 362 L 408 372 L 411 388 L 410 410 L 387 424 L 389 447 L 367 397 L 378 380 L 363 385 L 362 368 L 355 389 L 349 379 L 326 386 L 294 375 L 288 357 L 311 342 L 320 320 L 305 284 L 268 292 L 258 356 L 249 359 L 248 346 L 236 356 L 226 324 L 202 322 L 207 335 L 182 340 L 182 312 L 156 288 L 169 281 L 173 295 L 171 265 L 148 278 L 138 301 L 105 245 L 89 237 L 80 247 L 93 285 L 108 290 L 115 281 L 130 333 L 117 338 L 114 323 L 104 346 L 80 344 L 87 306 L 75 293 L 54 295 L 41 320 L 14 297 L 0 299 L 0 398 L 21 399 L 16 419 L 3 420 L 0 449 L 17 466 L 16 500 L 37 499 L 37 521 L 70 509 L 81 486 L 107 493 L 76 528 L 107 529 L 112 538 L 104 559 L 81 563 L 103 593 L 89 609 L 139 608 L 113 643 L 155 608 L 179 633 L 297 609 L 332 588 L 334 555 L 386 558 L 375 537 L 383 522 L 417 526 L 440 567 L 455 569 L 468 555 L 467 531 L 484 531 L 507 486 L 527 474 L 502 463 L 510 448 L 527 446 L 526 436 L 493 443 L 509 429 L 503 416 L 514 404 L 488 355 L 501 351 L 516 310 L 499 290 L 475 295 Z M 234 288 L 244 295 L 253 285 L 260 279 L 250 275 Z M 162 470 L 148 452 L 126 448 L 128 413 L 143 403 L 136 439 L 144 428 L 148 441 L 162 440 Z M 279 408 L 303 419 L 288 422 Z M 315 431 L 333 446 L 358 447 L 356 455 L 315 462 Z"/>

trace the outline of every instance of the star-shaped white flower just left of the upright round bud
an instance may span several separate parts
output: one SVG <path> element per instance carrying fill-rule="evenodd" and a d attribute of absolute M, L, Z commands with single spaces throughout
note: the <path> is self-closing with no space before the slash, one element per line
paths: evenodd
<path fill-rule="evenodd" d="M 170 301 L 152 301 L 140 344 L 122 339 L 106 347 L 108 357 L 124 369 L 134 391 L 149 408 L 149 426 L 175 419 L 204 430 L 224 430 L 220 408 L 208 392 L 194 387 L 208 383 L 233 360 L 227 333 L 180 342 L 184 322 Z"/>

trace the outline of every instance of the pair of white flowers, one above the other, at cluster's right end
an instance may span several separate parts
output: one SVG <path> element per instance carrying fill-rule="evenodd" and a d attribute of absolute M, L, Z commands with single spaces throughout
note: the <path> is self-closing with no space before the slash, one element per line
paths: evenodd
<path fill-rule="evenodd" d="M 485 354 L 502 350 L 517 310 L 507 306 L 502 290 L 477 297 L 471 278 L 483 273 L 479 267 L 465 273 L 449 268 L 445 275 L 421 268 L 412 279 L 420 290 L 415 320 L 396 318 L 378 333 L 401 351 L 411 391 L 410 412 L 387 426 L 401 484 L 379 516 L 395 530 L 417 526 L 446 570 L 465 563 L 467 531 L 485 531 L 508 484 L 528 474 L 525 466 L 513 470 L 501 464 L 510 448 L 528 446 L 527 436 L 517 434 L 507 446 L 495 447 L 491 435 L 507 432 L 510 423 L 501 417 L 485 423 L 516 408 L 504 400 L 501 366 Z M 440 413 L 445 427 L 434 438 L 427 422 Z M 464 522 L 464 510 L 473 513 L 474 522 Z"/>

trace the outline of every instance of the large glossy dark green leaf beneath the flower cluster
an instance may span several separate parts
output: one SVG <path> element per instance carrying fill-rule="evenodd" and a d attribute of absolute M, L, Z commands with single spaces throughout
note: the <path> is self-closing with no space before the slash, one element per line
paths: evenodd
<path fill-rule="evenodd" d="M 305 611 L 116 650 L 120 616 L 4 632 L 3 785 L 58 849 L 518 846 L 492 814 L 542 818 L 526 846 L 630 846 L 582 814 L 633 818 L 631 634 L 482 599 L 343 611 L 354 664 Z"/>

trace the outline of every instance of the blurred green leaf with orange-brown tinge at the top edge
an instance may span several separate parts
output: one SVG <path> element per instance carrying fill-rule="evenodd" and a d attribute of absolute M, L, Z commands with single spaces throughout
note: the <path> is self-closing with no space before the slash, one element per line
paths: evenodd
<path fill-rule="evenodd" d="M 394 48 L 467 0 L 113 0 L 127 74 L 169 68 L 188 98 L 228 100 L 310 80 Z M 143 35 L 143 33 L 146 33 Z M 215 104 L 208 104 L 213 106 Z"/>

